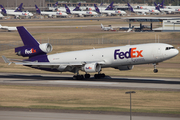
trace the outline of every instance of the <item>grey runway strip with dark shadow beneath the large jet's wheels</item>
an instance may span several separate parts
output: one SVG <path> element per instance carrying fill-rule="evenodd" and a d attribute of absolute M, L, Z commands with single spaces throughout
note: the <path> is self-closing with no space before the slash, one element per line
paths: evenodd
<path fill-rule="evenodd" d="M 33 84 L 59 85 L 82 87 L 109 87 L 133 89 L 169 89 L 180 90 L 180 79 L 170 78 L 138 78 L 138 77 L 109 77 L 104 79 L 73 80 L 73 75 L 45 75 L 0 73 L 0 84 Z"/>

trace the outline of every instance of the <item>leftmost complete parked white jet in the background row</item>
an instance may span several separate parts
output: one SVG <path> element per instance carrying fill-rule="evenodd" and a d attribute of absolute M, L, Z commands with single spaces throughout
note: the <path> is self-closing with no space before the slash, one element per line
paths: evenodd
<path fill-rule="evenodd" d="M 0 7 L 1 7 L 3 14 L 12 15 L 12 16 L 15 16 L 16 18 L 20 17 L 20 16 L 25 16 L 25 17 L 32 17 L 33 16 L 32 13 L 27 12 L 27 11 L 26 12 L 16 11 L 17 9 L 19 9 L 19 7 L 16 10 L 7 10 L 7 11 L 2 5 L 0 5 Z"/>

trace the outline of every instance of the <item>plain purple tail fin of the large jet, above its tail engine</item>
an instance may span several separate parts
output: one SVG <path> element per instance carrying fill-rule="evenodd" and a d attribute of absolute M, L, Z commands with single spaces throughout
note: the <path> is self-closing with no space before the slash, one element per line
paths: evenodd
<path fill-rule="evenodd" d="M 17 30 L 21 36 L 24 46 L 39 46 L 36 39 L 23 26 L 17 27 Z"/>

